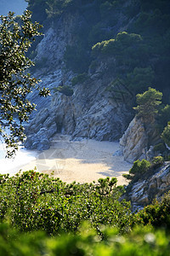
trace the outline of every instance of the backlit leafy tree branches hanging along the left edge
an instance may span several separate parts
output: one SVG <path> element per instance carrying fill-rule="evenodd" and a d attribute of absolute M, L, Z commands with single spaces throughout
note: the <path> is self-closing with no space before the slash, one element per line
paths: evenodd
<path fill-rule="evenodd" d="M 36 36 L 41 33 L 41 26 L 31 22 L 31 13 L 26 11 L 20 16 L 20 24 L 15 21 L 14 13 L 1 16 L 0 23 L 0 135 L 7 145 L 8 155 L 14 154 L 18 143 L 23 142 L 25 134 L 22 123 L 27 121 L 35 104 L 26 96 L 33 88 L 41 96 L 47 96 L 48 90 L 41 90 L 38 80 L 32 78 L 26 69 L 33 62 L 26 57 L 26 52 Z M 18 119 L 19 123 L 15 119 Z M 9 135 L 4 127 L 9 127 Z"/>

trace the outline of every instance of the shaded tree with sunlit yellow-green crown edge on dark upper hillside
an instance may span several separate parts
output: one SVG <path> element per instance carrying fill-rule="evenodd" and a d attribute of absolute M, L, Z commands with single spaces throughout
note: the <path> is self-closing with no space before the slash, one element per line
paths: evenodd
<path fill-rule="evenodd" d="M 135 67 L 144 68 L 143 66 L 148 61 L 148 54 L 149 48 L 145 46 L 143 38 L 135 33 L 119 32 L 115 39 L 102 41 L 92 47 L 92 55 L 94 57 L 105 58 L 105 61 L 110 57 L 114 57 L 116 74 L 120 78 L 123 77 L 124 70 L 126 73 L 132 73 Z M 152 73 L 150 73 L 151 76 Z"/>

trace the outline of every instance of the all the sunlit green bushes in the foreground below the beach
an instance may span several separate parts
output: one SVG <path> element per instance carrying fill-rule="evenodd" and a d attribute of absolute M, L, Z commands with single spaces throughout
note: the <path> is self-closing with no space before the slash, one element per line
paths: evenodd
<path fill-rule="evenodd" d="M 169 195 L 131 213 L 116 178 L 65 184 L 30 171 L 2 175 L 0 189 L 2 255 L 169 253 Z"/>

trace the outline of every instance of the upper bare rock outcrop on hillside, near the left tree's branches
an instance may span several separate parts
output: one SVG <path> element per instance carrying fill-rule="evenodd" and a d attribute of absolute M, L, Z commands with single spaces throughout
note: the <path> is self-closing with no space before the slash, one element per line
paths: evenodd
<path fill-rule="evenodd" d="M 44 37 L 36 49 L 37 73 L 56 71 L 63 67 L 65 48 L 75 42 L 72 31 L 75 24 L 79 22 L 78 19 L 79 16 L 76 13 L 74 15 L 61 15 L 59 20 L 54 20 L 51 26 L 46 29 Z"/>

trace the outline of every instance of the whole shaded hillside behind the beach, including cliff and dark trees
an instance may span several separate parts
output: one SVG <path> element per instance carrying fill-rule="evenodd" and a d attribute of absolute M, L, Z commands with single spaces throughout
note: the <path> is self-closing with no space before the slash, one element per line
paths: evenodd
<path fill-rule="evenodd" d="M 135 95 L 149 86 L 169 102 L 169 1 L 42 0 L 28 6 L 44 32 L 30 51 L 31 72 L 53 97 L 31 97 L 40 113 L 26 127 L 26 148 L 49 148 L 56 132 L 119 139 L 133 119 Z"/>

